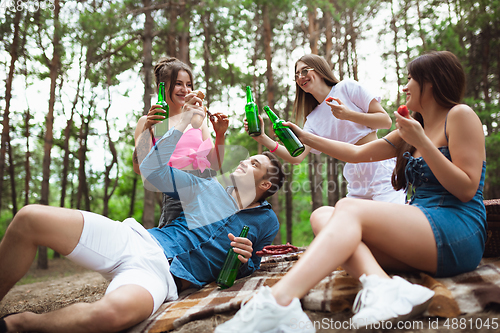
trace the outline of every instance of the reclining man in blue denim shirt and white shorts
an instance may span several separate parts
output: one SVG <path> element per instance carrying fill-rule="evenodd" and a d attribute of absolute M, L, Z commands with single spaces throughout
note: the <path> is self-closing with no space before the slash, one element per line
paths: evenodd
<path fill-rule="evenodd" d="M 38 246 L 50 247 L 111 281 L 97 302 L 44 314 L 10 314 L 0 319 L 0 332 L 121 331 L 148 318 L 164 301 L 176 299 L 179 291 L 215 281 L 231 247 L 243 263 L 238 277 L 259 268 L 260 257 L 253 250 L 271 244 L 279 230 L 265 199 L 283 184 L 281 164 L 270 153 L 241 161 L 231 174 L 235 186 L 229 188 L 215 178 L 168 166 L 192 114 L 204 115 L 198 102 L 188 98 L 179 123 L 141 158 L 141 173 L 151 184 L 185 201 L 185 214 L 171 224 L 146 230 L 132 218 L 118 222 L 42 205 L 25 206 L 16 214 L 0 243 L 0 300 L 28 271 Z M 150 125 L 155 117 L 150 112 Z M 248 236 L 235 237 L 244 225 L 250 228 Z"/>

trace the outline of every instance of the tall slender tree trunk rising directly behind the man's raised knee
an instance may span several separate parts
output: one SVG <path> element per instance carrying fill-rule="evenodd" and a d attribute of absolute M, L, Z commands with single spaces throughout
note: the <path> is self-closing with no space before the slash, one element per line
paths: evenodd
<path fill-rule="evenodd" d="M 43 164 L 42 164 L 42 193 L 40 204 L 49 204 L 49 180 L 50 180 L 50 152 L 52 150 L 53 140 L 53 125 L 54 125 L 54 105 L 56 102 L 56 84 L 59 76 L 60 67 L 60 26 L 59 26 L 59 0 L 54 1 L 54 38 L 52 39 L 52 60 L 50 62 L 50 96 L 49 96 L 49 111 L 46 118 L 46 131 L 43 147 Z M 38 266 L 39 269 L 48 269 L 49 262 L 47 258 L 47 247 L 38 247 Z"/>

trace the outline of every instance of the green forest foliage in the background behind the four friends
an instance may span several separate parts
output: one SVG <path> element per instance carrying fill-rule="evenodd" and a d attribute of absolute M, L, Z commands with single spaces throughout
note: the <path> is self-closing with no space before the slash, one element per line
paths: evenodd
<path fill-rule="evenodd" d="M 164 6 L 166 2 L 152 2 L 153 6 Z M 294 99 L 295 85 L 291 80 L 290 64 L 298 53 L 307 53 L 309 45 L 308 10 L 317 12 L 318 50 L 326 53 L 326 13 L 333 16 L 332 23 L 338 25 L 338 34 L 333 37 L 331 55 L 336 74 L 353 77 L 353 59 L 356 56 L 356 38 L 364 38 L 364 33 L 371 29 L 377 21 L 384 27 L 380 42 L 386 49 L 387 59 L 385 80 L 399 78 L 398 89 L 404 84 L 405 67 L 408 61 L 428 50 L 449 50 L 462 61 L 466 72 L 468 88 L 465 102 L 479 115 L 486 134 L 487 152 L 487 195 L 500 196 L 500 164 L 499 123 L 499 50 L 500 37 L 500 2 L 477 0 L 459 0 L 444 3 L 436 0 L 421 0 L 417 3 L 400 0 L 393 2 L 376 2 L 374 0 L 332 2 L 327 0 L 208 0 L 189 2 L 186 13 L 177 13 L 175 26 L 170 22 L 170 8 L 162 7 L 153 10 L 154 41 L 153 59 L 167 55 L 169 34 L 186 33 L 190 40 L 190 60 L 194 69 L 196 88 L 205 89 L 207 100 L 218 105 L 227 105 L 231 114 L 231 124 L 227 132 L 228 158 L 225 159 L 224 170 L 231 170 L 246 154 L 253 155 L 258 145 L 242 128 L 243 109 L 233 106 L 235 101 L 244 99 L 245 86 L 251 86 L 257 104 L 262 109 L 268 104 L 268 92 L 274 94 L 274 110 L 282 117 L 290 116 Z M 102 132 L 97 124 L 104 118 L 103 109 L 110 102 L 106 87 L 117 86 L 121 73 L 141 69 L 143 50 L 141 34 L 143 33 L 143 4 L 138 0 L 124 1 L 78 1 L 62 2 L 60 15 L 61 36 L 61 70 L 57 80 L 58 98 L 55 110 L 55 137 L 52 149 L 50 204 L 59 205 L 60 184 L 62 174 L 62 154 L 64 133 L 62 128 L 66 122 L 69 108 L 68 100 L 76 95 L 77 77 L 72 71 L 77 57 L 82 57 L 81 69 L 83 82 L 76 104 L 76 116 L 71 128 L 70 167 L 68 170 L 68 188 L 66 207 L 76 205 L 78 186 L 78 148 L 79 130 L 82 117 L 90 119 L 89 141 L 105 145 L 106 139 L 99 135 Z M 265 7 L 267 6 L 267 7 Z M 177 8 L 177 7 L 176 7 Z M 272 40 L 271 54 L 273 85 L 270 86 L 266 74 L 267 64 L 264 53 L 263 10 L 267 8 L 271 18 Z M 376 16 L 379 10 L 391 12 L 386 18 Z M 384 13 L 385 13 L 384 12 Z M 28 85 L 46 85 L 49 78 L 49 59 L 52 56 L 52 38 L 54 35 L 53 12 L 41 10 L 35 13 L 23 12 L 21 18 L 20 60 L 18 60 L 15 79 L 25 78 Z M 5 57 L 0 59 L 4 70 L 8 69 L 8 56 L 12 44 L 14 12 L 0 13 L 0 47 Z M 354 38 L 356 37 L 356 38 Z M 387 43 L 386 43 L 387 42 Z M 337 49 L 342 50 L 338 52 Z M 301 55 L 300 54 L 300 55 Z M 300 56 L 299 55 L 299 56 Z M 397 56 L 397 57 L 396 57 Z M 21 60 L 22 59 L 22 60 Z M 396 60 L 397 59 L 397 60 Z M 397 63 L 396 63 L 397 61 Z M 24 64 L 26 62 L 26 64 Z M 399 72 L 396 73 L 396 65 Z M 5 70 L 5 72 L 8 72 Z M 394 75 L 395 74 L 395 75 Z M 338 76 L 338 75 L 337 75 Z M 47 80 L 46 80 L 47 79 Z M 143 82 L 137 80 L 137 90 L 142 90 Z M 3 91 L 0 93 L 2 107 L 5 103 Z M 127 95 L 128 92 L 123 92 Z M 25 98 L 18 86 L 13 91 L 14 99 Z M 392 111 L 400 101 L 382 101 L 382 105 L 393 117 Z M 29 96 L 25 99 L 29 99 Z M 112 101 L 111 101 L 112 102 Z M 28 201 L 37 203 L 40 200 L 40 183 L 42 178 L 43 140 L 45 119 L 40 113 L 46 113 L 46 100 L 30 101 L 32 115 L 36 115 L 30 123 L 30 193 Z M 42 105 L 40 107 L 40 105 Z M 2 108 L 3 110 L 3 108 Z M 24 138 L 23 109 L 11 108 L 11 145 L 15 168 L 15 186 L 18 207 L 24 204 L 24 179 L 26 170 L 24 159 L 26 138 Z M 137 113 L 137 114 L 136 114 Z M 113 135 L 119 136 L 117 149 L 119 168 L 116 169 L 118 187 L 109 202 L 109 217 L 123 220 L 128 217 L 132 192 L 134 191 L 135 174 L 132 170 L 131 154 L 133 149 L 133 128 L 142 110 L 125 110 L 124 117 L 130 125 L 125 128 L 114 128 Z M 264 117 L 266 118 L 266 117 Z M 63 124 L 63 125 L 60 125 Z M 59 126 L 59 127 L 58 127 Z M 266 130 L 269 124 L 266 119 Z M 394 129 L 394 126 L 390 129 Z M 390 130 L 379 130 L 379 137 Z M 272 136 L 272 133 L 268 133 Z M 93 152 L 87 152 L 87 157 Z M 245 156 L 243 156 L 245 155 Z M 311 214 L 311 195 L 307 163 L 294 168 L 293 175 L 293 242 L 296 245 L 307 245 L 313 238 L 309 224 Z M 103 209 L 103 172 L 94 170 L 91 164 L 86 167 L 91 209 L 101 212 Z M 0 237 L 12 219 L 12 203 L 10 202 L 10 182 L 6 173 L 4 179 L 3 207 L 0 207 Z M 496 191 L 496 192 L 495 192 Z M 284 207 L 284 191 L 279 198 Z M 135 189 L 135 205 L 133 216 L 142 219 L 142 199 L 144 195 L 142 181 L 137 178 Z M 326 186 L 324 199 L 326 204 Z M 156 217 L 159 210 L 156 209 Z M 285 211 L 282 209 L 280 220 L 285 239 Z"/>

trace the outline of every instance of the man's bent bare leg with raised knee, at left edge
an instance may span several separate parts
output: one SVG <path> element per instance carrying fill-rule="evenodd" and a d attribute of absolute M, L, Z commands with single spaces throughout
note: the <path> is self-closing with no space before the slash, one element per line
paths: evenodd
<path fill-rule="evenodd" d="M 82 230 L 83 216 L 76 210 L 23 207 L 0 243 L 0 300 L 26 274 L 39 245 L 68 255 L 78 244 Z"/>

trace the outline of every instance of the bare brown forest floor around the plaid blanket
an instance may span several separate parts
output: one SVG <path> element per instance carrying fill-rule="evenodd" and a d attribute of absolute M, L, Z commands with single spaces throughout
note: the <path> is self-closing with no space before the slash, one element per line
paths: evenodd
<path fill-rule="evenodd" d="M 65 258 L 50 260 L 48 270 L 37 270 L 36 263 L 34 263 L 20 283 L 12 288 L 0 302 L 0 316 L 19 311 L 43 313 L 76 302 L 94 302 L 104 295 L 107 285 L 107 281 L 100 274 L 83 269 Z M 306 312 L 315 323 L 317 332 L 486 333 L 500 331 L 500 309 L 497 308 L 488 309 L 479 314 L 463 315 L 448 321 L 446 318 L 415 318 L 401 322 L 406 327 L 404 329 L 396 329 L 396 324 L 394 324 L 392 329 L 386 326 L 370 330 L 350 328 L 349 319 L 352 314 L 349 311 L 342 313 Z M 233 315 L 234 312 L 197 320 L 173 332 L 213 332 L 218 324 L 230 319 Z M 496 329 L 493 323 L 497 324 Z"/>

